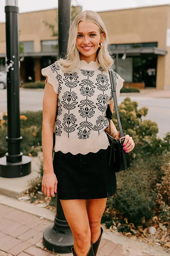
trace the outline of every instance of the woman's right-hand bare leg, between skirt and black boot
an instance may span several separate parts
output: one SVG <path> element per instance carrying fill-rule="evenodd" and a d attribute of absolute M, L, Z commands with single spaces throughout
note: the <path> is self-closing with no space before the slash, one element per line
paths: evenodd
<path fill-rule="evenodd" d="M 88 199 L 86 200 L 86 208 L 91 230 L 91 243 L 95 243 L 100 234 L 101 217 L 105 211 L 107 198 Z"/>

